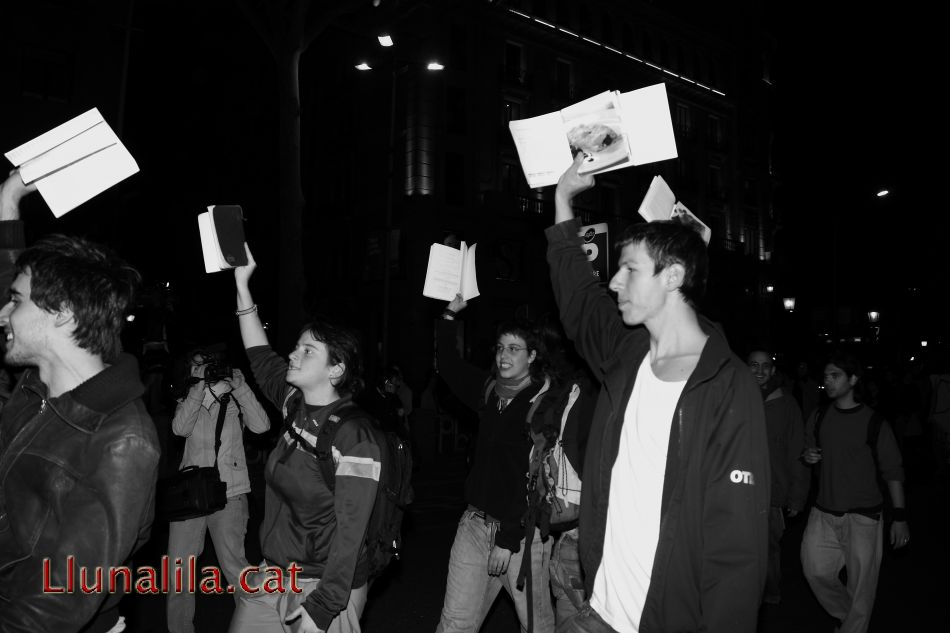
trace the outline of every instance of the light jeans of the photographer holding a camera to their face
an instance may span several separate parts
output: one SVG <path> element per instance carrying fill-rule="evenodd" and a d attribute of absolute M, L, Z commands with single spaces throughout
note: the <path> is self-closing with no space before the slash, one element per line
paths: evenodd
<path fill-rule="evenodd" d="M 214 543 L 214 551 L 218 555 L 218 563 L 225 579 L 231 586 L 240 587 L 241 572 L 248 566 L 244 555 L 247 516 L 247 495 L 242 494 L 228 497 L 227 505 L 214 514 L 185 521 L 172 521 L 168 526 L 168 559 L 172 578 L 176 568 L 175 560 L 180 558 L 182 568 L 187 570 L 188 558 L 197 558 L 201 554 L 205 545 L 205 532 L 210 531 L 211 542 Z M 168 592 L 166 602 L 168 630 L 171 633 L 194 633 L 195 594 L 174 589 L 172 587 Z"/>

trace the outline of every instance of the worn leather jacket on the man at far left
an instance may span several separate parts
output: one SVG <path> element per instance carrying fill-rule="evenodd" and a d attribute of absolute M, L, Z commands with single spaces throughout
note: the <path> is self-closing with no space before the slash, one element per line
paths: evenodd
<path fill-rule="evenodd" d="M 123 354 L 49 398 L 30 368 L 4 407 L 0 632 L 78 631 L 121 598 L 108 591 L 109 569 L 148 538 L 160 453 L 138 376 Z M 94 586 L 99 568 L 102 587 L 83 592 L 81 580 Z"/>

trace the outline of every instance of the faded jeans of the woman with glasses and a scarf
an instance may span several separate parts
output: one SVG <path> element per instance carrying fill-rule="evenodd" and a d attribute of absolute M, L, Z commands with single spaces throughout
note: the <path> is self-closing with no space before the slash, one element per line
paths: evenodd
<path fill-rule="evenodd" d="M 511 555 L 508 571 L 500 576 L 488 575 L 488 555 L 494 544 L 496 523 L 487 523 L 475 512 L 466 510 L 455 532 L 455 542 L 449 558 L 449 574 L 445 584 L 445 601 L 437 633 L 476 633 L 488 610 L 504 588 L 515 603 L 521 622 L 521 631 L 528 630 L 528 583 L 524 590 L 517 587 L 518 572 L 524 556 L 525 542 Z M 541 542 L 535 530 L 531 543 L 531 597 L 534 633 L 554 631 L 554 610 L 551 608 L 548 566 L 551 541 Z"/>

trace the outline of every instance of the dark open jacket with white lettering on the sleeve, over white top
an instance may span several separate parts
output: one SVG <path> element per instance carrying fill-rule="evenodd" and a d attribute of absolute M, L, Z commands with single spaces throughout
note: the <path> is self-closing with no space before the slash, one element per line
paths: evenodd
<path fill-rule="evenodd" d="M 580 223 L 547 229 L 561 322 L 601 381 L 584 467 L 580 557 L 587 591 L 604 555 L 610 478 L 627 401 L 650 350 L 591 274 Z M 765 585 L 770 475 L 759 388 L 722 333 L 709 336 L 671 421 L 660 535 L 642 633 L 753 632 Z"/>

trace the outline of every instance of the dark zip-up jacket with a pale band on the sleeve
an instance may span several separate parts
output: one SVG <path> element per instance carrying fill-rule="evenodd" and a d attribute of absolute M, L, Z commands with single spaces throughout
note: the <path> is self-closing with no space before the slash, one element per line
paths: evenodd
<path fill-rule="evenodd" d="M 261 392 L 290 412 L 277 446 L 264 469 L 267 484 L 261 551 L 270 565 L 287 569 L 297 563 L 302 578 L 320 584 L 303 603 L 321 630 L 346 608 L 350 591 L 369 576 L 363 547 L 379 485 L 380 449 L 365 412 L 339 427 L 333 436 L 336 487 L 323 479 L 314 450 L 320 426 L 350 402 L 340 398 L 307 415 L 301 394 L 284 381 L 287 362 L 269 346 L 247 349 Z"/>

